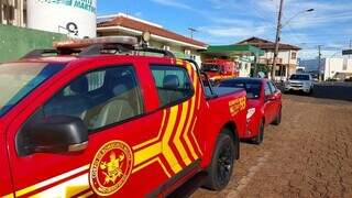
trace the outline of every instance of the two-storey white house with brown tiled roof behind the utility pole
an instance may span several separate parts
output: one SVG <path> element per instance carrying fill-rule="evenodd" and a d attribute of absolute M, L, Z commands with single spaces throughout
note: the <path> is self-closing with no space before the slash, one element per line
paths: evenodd
<path fill-rule="evenodd" d="M 275 51 L 274 42 L 258 38 L 258 37 L 251 37 L 238 44 L 241 44 L 241 45 L 249 44 L 263 50 L 265 53 L 264 55 L 260 56 L 258 64 L 271 66 L 271 67 L 273 66 L 274 51 Z M 283 44 L 283 43 L 279 44 L 279 52 L 278 52 L 276 68 L 275 68 L 276 80 L 287 79 L 292 74 L 296 73 L 296 69 L 298 66 L 299 50 L 300 48 L 298 46 Z"/>

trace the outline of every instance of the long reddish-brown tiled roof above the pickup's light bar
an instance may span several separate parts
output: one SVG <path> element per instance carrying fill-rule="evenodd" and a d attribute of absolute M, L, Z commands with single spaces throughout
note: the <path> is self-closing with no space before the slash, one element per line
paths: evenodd
<path fill-rule="evenodd" d="M 176 34 L 172 31 L 168 31 L 166 29 L 163 29 L 162 26 L 158 25 L 153 25 L 151 23 L 145 23 L 141 20 L 134 20 L 131 19 L 127 15 L 118 14 L 116 18 L 103 21 L 97 24 L 98 29 L 99 28 L 109 28 L 109 26 L 122 26 L 127 29 L 132 29 L 141 32 L 148 31 L 154 35 L 158 35 L 162 37 L 170 38 L 170 40 L 176 40 L 179 42 L 197 45 L 199 47 L 206 47 L 207 44 L 202 43 L 200 41 L 193 40 L 190 37 L 186 37 L 184 35 Z"/>

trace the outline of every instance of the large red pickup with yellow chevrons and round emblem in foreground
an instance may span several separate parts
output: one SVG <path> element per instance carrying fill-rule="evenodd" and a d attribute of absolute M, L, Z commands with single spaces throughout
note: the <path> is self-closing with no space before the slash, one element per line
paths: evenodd
<path fill-rule="evenodd" d="M 133 37 L 56 47 L 0 65 L 1 197 L 157 197 L 199 174 L 228 184 L 244 90 L 205 86 L 195 63 Z"/>

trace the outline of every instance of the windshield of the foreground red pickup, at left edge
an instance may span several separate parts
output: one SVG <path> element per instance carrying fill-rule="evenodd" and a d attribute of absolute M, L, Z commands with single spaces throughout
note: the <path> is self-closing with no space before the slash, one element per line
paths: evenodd
<path fill-rule="evenodd" d="M 62 68 L 47 63 L 0 64 L 0 117 Z"/>

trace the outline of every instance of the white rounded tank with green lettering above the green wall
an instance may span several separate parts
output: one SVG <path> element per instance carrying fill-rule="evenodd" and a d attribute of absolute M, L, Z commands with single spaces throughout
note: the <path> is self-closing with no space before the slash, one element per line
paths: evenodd
<path fill-rule="evenodd" d="M 97 35 L 97 0 L 28 0 L 26 6 L 30 29 L 68 34 L 73 37 Z"/>

